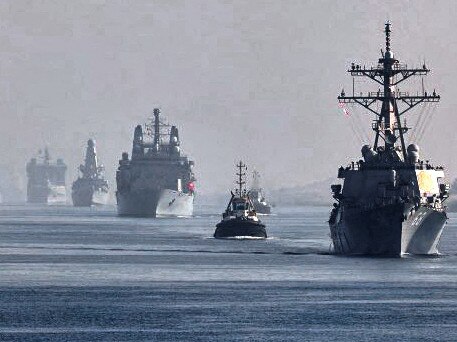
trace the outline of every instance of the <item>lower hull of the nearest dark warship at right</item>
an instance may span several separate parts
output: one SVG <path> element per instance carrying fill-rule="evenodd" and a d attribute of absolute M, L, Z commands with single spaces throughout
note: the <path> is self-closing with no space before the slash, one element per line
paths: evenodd
<path fill-rule="evenodd" d="M 438 253 L 447 220 L 444 211 L 393 204 L 371 210 L 338 209 L 330 224 L 334 252 L 343 255 L 401 256 Z"/>

